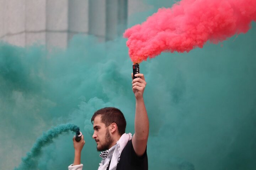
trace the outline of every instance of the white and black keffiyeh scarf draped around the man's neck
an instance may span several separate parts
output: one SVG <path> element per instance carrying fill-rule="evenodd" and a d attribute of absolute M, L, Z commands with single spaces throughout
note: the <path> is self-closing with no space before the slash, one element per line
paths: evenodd
<path fill-rule="evenodd" d="M 106 170 L 110 163 L 109 170 L 116 170 L 117 163 L 120 159 L 120 155 L 127 142 L 132 139 L 132 134 L 123 134 L 117 141 L 116 145 L 112 146 L 107 151 L 101 152 L 100 157 L 102 158 L 98 170 Z M 111 161 L 111 162 L 110 162 Z"/>

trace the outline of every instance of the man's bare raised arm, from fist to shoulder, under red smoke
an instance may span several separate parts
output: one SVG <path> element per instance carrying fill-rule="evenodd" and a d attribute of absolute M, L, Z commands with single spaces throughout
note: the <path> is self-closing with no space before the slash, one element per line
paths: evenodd
<path fill-rule="evenodd" d="M 132 73 L 133 77 L 133 73 Z M 143 74 L 135 74 L 136 78 L 132 81 L 132 89 L 135 95 L 136 109 L 134 130 L 135 134 L 132 138 L 132 144 L 135 153 L 142 156 L 146 150 L 149 135 L 149 120 L 146 112 L 146 107 L 143 99 L 143 92 L 146 86 L 146 81 Z"/>

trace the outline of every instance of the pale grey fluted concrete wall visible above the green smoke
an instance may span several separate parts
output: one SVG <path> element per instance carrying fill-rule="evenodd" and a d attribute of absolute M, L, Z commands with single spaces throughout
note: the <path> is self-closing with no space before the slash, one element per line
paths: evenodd
<path fill-rule="evenodd" d="M 143 0 L 0 0 L 0 39 L 63 48 L 78 33 L 108 41 L 122 35 L 129 15 L 148 8 Z"/>

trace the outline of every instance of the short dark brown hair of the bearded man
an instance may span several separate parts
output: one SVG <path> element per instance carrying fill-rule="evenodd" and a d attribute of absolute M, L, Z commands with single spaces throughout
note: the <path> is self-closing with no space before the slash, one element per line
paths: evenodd
<path fill-rule="evenodd" d="M 118 134 L 123 135 L 125 133 L 126 120 L 124 118 L 123 113 L 118 108 L 105 107 L 105 108 L 102 108 L 102 109 L 96 111 L 91 118 L 92 124 L 93 124 L 95 117 L 98 115 L 101 115 L 101 121 L 105 124 L 106 127 L 112 123 L 116 123 L 117 129 L 118 129 Z"/>

